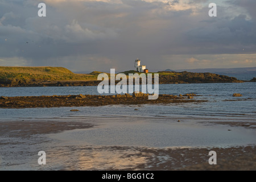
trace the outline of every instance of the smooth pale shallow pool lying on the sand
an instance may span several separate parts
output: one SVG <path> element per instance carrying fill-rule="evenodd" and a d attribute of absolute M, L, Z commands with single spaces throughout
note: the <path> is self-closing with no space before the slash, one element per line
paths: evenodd
<path fill-rule="evenodd" d="M 93 146 L 139 147 L 229 147 L 254 144 L 256 131 L 240 127 L 198 123 L 184 119 L 176 122 L 166 119 L 94 119 L 90 129 L 77 129 L 50 134 L 60 143 Z M 203 122 L 203 120 L 201 120 Z M 205 122 L 205 121 L 204 121 Z M 229 131 L 231 130 L 231 131 Z"/>

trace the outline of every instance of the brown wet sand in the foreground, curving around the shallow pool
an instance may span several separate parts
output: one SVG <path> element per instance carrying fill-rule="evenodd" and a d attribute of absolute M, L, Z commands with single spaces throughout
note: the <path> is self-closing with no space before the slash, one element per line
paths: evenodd
<path fill-rule="evenodd" d="M 47 137 L 48 134 L 65 130 L 88 129 L 89 127 L 94 127 L 94 125 L 62 121 L 2 121 L 0 156 L 3 163 L 0 169 L 256 170 L 255 146 L 229 148 L 80 146 L 76 144 L 61 145 Z M 38 140 L 40 140 L 39 143 L 36 142 Z M 32 160 L 36 162 L 38 158 L 32 154 L 34 155 L 42 146 L 47 150 L 48 166 L 44 167 L 31 163 Z M 208 163 L 209 151 L 217 152 L 217 165 Z M 14 158 L 13 154 L 15 154 Z M 16 154 L 20 155 L 20 161 Z M 24 160 L 26 158 L 29 160 Z"/>

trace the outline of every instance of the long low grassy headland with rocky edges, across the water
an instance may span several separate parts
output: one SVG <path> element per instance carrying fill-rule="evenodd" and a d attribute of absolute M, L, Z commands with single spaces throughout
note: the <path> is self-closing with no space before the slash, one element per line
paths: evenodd
<path fill-rule="evenodd" d="M 102 72 L 77 74 L 62 67 L 0 67 L 0 86 L 88 86 L 98 85 Z M 127 76 L 135 71 L 122 72 Z M 157 72 L 160 84 L 242 82 L 234 77 L 214 73 Z M 107 73 L 109 76 L 110 74 Z M 140 74 L 140 73 L 139 73 Z M 153 75 L 154 77 L 154 75 Z"/>

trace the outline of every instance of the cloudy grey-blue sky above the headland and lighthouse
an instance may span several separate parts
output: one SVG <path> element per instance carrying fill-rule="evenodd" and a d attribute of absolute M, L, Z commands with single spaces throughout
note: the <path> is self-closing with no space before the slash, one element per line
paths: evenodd
<path fill-rule="evenodd" d="M 39 17 L 39 3 L 46 17 Z M 217 16 L 210 17 L 209 3 Z M 256 67 L 255 0 L 0 0 L 0 66 Z"/>

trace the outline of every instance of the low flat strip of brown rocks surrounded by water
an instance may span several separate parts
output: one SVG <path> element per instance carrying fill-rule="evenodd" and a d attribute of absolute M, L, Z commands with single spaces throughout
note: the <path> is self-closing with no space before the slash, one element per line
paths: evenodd
<path fill-rule="evenodd" d="M 157 100 L 148 100 L 148 94 L 133 93 L 117 94 L 114 96 L 100 95 L 69 95 L 69 96 L 27 96 L 27 97 L 0 97 L 0 108 L 28 108 L 28 107 L 72 107 L 72 106 L 104 106 L 117 104 L 169 104 L 179 102 L 207 102 L 195 100 L 195 94 L 174 96 L 160 94 Z"/>

